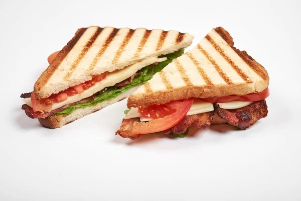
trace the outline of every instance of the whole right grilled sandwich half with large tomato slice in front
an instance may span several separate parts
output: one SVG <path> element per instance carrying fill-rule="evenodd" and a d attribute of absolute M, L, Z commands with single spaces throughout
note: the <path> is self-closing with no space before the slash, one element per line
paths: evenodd
<path fill-rule="evenodd" d="M 189 128 L 222 123 L 247 129 L 267 116 L 268 84 L 262 65 L 236 49 L 225 29 L 212 29 L 128 97 L 129 110 L 116 135 L 185 137 Z"/>

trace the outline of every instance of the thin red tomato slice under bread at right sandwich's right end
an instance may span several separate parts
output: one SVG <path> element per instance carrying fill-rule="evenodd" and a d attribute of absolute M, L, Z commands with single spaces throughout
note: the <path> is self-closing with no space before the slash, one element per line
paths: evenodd
<path fill-rule="evenodd" d="M 224 97 L 207 97 L 207 98 L 200 98 L 205 102 L 209 103 L 227 103 L 231 101 L 247 101 L 247 102 L 255 102 L 262 99 L 265 99 L 269 96 L 268 88 L 264 89 L 259 93 L 250 93 L 247 95 L 228 95 Z"/>

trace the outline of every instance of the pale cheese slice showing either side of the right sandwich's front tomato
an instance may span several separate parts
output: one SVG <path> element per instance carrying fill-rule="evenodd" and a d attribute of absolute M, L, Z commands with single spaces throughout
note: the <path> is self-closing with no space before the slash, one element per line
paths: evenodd
<path fill-rule="evenodd" d="M 206 113 L 206 112 L 210 112 L 213 110 L 214 110 L 214 107 L 213 107 L 212 103 L 203 102 L 202 100 L 196 98 L 186 116 L 200 114 L 200 113 Z M 142 117 L 140 115 L 140 113 L 138 113 L 138 108 L 132 108 L 127 113 L 127 115 L 124 117 L 124 119 L 131 119 L 131 118 L 136 118 L 136 117 L 139 117 L 141 122 L 147 122 L 147 121 L 153 120 L 152 118 Z"/>

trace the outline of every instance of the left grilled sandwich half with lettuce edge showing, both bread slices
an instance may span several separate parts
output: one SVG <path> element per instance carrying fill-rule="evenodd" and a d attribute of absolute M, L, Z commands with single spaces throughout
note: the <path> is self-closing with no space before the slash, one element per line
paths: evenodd
<path fill-rule="evenodd" d="M 191 34 L 159 29 L 78 29 L 48 58 L 33 91 L 21 94 L 22 109 L 45 127 L 62 127 L 128 97 L 192 40 Z"/>

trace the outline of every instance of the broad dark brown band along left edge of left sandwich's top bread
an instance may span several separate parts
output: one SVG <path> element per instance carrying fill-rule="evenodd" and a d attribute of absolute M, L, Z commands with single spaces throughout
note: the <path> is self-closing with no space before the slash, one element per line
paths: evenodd
<path fill-rule="evenodd" d="M 65 59 L 65 57 L 68 55 L 70 50 L 75 46 L 77 41 L 82 37 L 82 35 L 85 33 L 87 28 L 81 28 L 77 30 L 75 33 L 75 36 L 69 41 L 69 43 L 59 52 L 59 54 L 56 56 L 56 58 L 53 60 L 53 62 L 50 64 L 50 66 L 44 71 L 42 76 L 38 79 L 35 90 L 40 90 L 40 87 L 45 85 L 50 77 L 53 75 L 55 70 L 60 66 L 62 61 Z"/>

